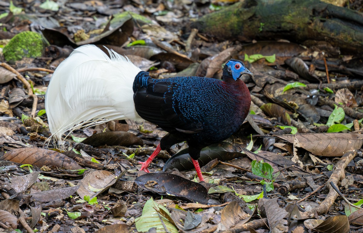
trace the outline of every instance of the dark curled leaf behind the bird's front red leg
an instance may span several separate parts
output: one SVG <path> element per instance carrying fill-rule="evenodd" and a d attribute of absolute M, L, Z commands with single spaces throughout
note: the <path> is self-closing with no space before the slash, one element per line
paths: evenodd
<path fill-rule="evenodd" d="M 234 151 L 233 151 L 234 150 Z M 205 147 L 200 151 L 200 157 L 198 162 L 201 166 L 209 163 L 213 159 L 220 161 L 227 161 L 236 158 L 241 158 L 244 154 L 237 152 L 236 148 L 231 148 L 231 144 L 222 142 L 220 144 L 213 144 L 209 147 Z M 188 153 L 188 148 L 178 151 L 175 155 L 164 164 L 163 171 L 167 169 L 177 168 L 179 171 L 185 171 L 194 167 L 193 162 Z"/>

